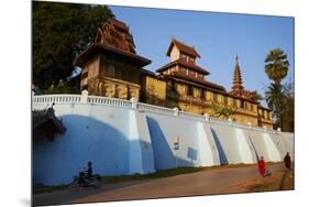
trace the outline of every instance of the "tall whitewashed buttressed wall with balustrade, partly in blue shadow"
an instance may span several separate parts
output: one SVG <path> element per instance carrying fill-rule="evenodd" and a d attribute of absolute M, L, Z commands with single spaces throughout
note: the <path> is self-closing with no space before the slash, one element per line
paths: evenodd
<path fill-rule="evenodd" d="M 93 163 L 101 175 L 146 174 L 178 166 L 294 160 L 294 133 L 146 103 L 82 95 L 33 96 L 33 110 L 55 103 L 67 131 L 33 142 L 33 181 L 67 184 Z M 37 137 L 37 134 L 36 134 Z M 40 137 L 40 134 L 38 134 Z M 179 149 L 175 150 L 175 142 Z"/>

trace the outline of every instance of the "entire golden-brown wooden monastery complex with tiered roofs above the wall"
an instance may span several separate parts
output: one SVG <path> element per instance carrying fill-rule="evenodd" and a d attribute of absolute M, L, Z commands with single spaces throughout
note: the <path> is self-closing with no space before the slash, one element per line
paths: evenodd
<path fill-rule="evenodd" d="M 230 119 L 241 123 L 273 128 L 271 110 L 263 107 L 243 87 L 239 57 L 235 59 L 233 86 L 208 80 L 210 73 L 197 64 L 200 58 L 194 46 L 173 39 L 167 56 L 170 62 L 154 72 L 143 67 L 150 59 L 135 52 L 129 26 L 109 19 L 98 30 L 95 43 L 76 58 L 82 68 L 80 88 L 89 95 L 131 99 L 199 115 L 214 115 L 213 106 L 234 112 Z"/>

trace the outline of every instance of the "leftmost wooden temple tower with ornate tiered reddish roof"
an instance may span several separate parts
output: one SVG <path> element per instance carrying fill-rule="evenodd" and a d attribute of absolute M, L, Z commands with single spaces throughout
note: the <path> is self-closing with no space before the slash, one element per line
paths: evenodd
<path fill-rule="evenodd" d="M 129 26 L 110 18 L 75 59 L 82 68 L 80 88 L 89 95 L 131 99 L 140 97 L 140 69 L 151 61 L 135 52 Z"/>

